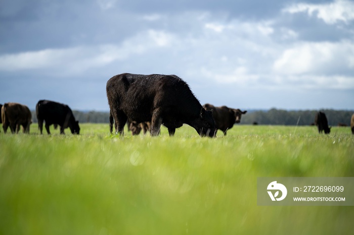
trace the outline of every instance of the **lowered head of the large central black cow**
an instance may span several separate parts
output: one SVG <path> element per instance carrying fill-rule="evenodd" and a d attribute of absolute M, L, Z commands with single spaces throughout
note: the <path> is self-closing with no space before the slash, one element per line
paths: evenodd
<path fill-rule="evenodd" d="M 212 110 L 201 109 L 199 114 L 199 119 L 196 124 L 197 128 L 195 128 L 201 137 L 215 137 L 216 129 L 215 129 L 215 121 L 212 116 Z"/>

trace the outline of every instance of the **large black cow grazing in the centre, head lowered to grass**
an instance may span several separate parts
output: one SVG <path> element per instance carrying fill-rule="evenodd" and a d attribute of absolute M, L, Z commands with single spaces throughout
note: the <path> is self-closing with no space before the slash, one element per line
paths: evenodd
<path fill-rule="evenodd" d="M 127 119 L 136 123 L 151 122 L 151 135 L 159 133 L 161 124 L 173 136 L 175 129 L 188 124 L 200 136 L 213 137 L 215 122 L 190 87 L 175 75 L 120 74 L 107 82 L 110 107 L 110 132 L 123 135 Z"/>

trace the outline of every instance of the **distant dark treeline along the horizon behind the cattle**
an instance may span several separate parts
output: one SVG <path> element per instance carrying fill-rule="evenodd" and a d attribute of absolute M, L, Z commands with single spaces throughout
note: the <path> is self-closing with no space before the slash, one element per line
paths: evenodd
<path fill-rule="evenodd" d="M 272 108 L 270 110 L 249 110 L 242 115 L 241 123 L 245 125 L 300 125 L 307 126 L 315 122 L 315 115 L 319 110 L 282 110 Z M 326 113 L 328 125 L 338 126 L 344 124 L 350 126 L 350 118 L 354 110 L 321 109 Z M 73 110 L 75 119 L 79 123 L 109 123 L 109 112 L 77 111 Z M 32 111 L 32 121 L 37 122 L 35 111 Z"/>

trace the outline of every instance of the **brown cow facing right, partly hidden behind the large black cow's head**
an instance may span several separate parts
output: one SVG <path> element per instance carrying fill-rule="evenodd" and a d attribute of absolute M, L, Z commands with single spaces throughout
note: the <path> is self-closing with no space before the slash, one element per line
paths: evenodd
<path fill-rule="evenodd" d="M 215 107 L 208 103 L 204 104 L 203 107 L 205 110 L 213 110 L 216 130 L 222 130 L 224 135 L 226 135 L 226 132 L 231 129 L 235 123 L 240 123 L 241 115 L 247 112 L 227 106 Z"/>

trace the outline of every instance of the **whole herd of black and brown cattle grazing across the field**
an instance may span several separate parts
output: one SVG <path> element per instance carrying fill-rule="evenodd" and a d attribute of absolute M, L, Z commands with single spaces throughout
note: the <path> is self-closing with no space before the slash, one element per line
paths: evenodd
<path fill-rule="evenodd" d="M 235 123 L 240 123 L 241 115 L 247 112 L 208 103 L 202 106 L 188 84 L 175 75 L 119 74 L 108 80 L 106 91 L 110 107 L 110 132 L 113 132 L 114 124 L 115 133 L 121 135 L 126 124 L 133 135 L 143 130 L 144 134 L 150 131 L 152 136 L 157 136 L 163 125 L 173 136 L 175 129 L 183 124 L 193 127 L 202 137 L 215 137 L 217 130 L 226 135 Z M 18 133 L 21 126 L 23 133 L 29 133 L 32 116 L 26 105 L 5 103 L 0 104 L 0 110 L 0 121 L 5 133 L 8 127 L 12 133 Z M 43 122 L 46 123 L 48 134 L 52 124 L 55 128 L 60 126 L 61 134 L 66 128 L 70 128 L 72 134 L 80 133 L 78 121 L 66 104 L 39 100 L 36 115 L 40 134 Z M 330 133 L 325 113 L 316 114 L 315 125 L 319 133 Z M 354 134 L 354 114 L 351 116 L 350 128 Z"/>

